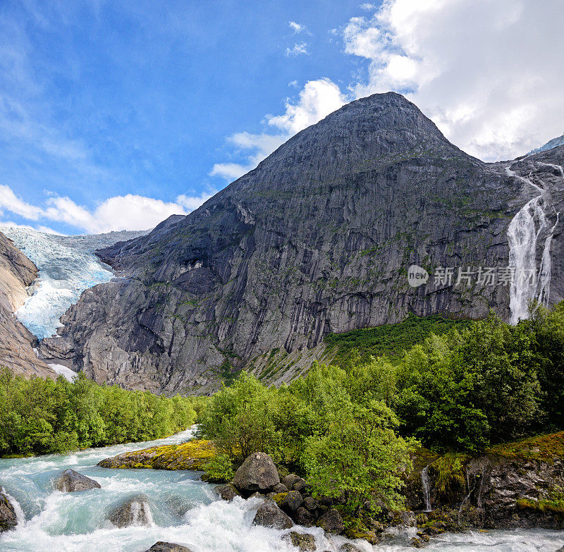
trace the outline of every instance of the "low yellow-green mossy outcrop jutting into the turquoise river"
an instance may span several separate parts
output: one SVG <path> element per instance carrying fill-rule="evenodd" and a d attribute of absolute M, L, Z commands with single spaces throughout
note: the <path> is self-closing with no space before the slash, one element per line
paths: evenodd
<path fill-rule="evenodd" d="M 113 458 L 100 460 L 100 467 L 152 468 L 153 470 L 202 470 L 212 460 L 216 450 L 212 441 L 192 439 L 179 445 L 157 445 Z"/>

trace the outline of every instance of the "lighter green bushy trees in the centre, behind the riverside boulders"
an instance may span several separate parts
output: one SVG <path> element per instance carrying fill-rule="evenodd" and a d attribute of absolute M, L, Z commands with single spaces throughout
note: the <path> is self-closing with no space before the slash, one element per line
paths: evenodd
<path fill-rule="evenodd" d="M 377 501 L 397 506 L 415 443 L 398 436 L 399 420 L 384 401 L 369 395 L 353 401 L 348 388 L 344 370 L 321 364 L 281 388 L 243 372 L 209 401 L 200 430 L 235 465 L 262 450 L 305 474 L 317 494 L 346 496 L 351 513 L 367 501 L 374 510 Z M 221 470 L 228 477 L 225 460 L 210 466 L 214 479 Z"/>

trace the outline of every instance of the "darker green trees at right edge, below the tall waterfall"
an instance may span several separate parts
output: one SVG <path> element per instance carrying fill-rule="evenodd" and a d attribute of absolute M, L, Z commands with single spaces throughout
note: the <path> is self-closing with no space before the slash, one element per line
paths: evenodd
<path fill-rule="evenodd" d="M 563 429 L 563 326 L 560 304 L 517 326 L 491 315 L 415 345 L 396 367 L 402 431 L 439 450 L 479 452 Z"/>

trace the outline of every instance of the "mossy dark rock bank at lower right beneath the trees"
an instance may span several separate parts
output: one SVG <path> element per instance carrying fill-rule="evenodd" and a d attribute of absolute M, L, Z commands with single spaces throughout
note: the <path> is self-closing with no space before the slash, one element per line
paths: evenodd
<path fill-rule="evenodd" d="M 452 465 L 433 460 L 427 483 L 432 511 L 419 516 L 419 525 L 440 531 L 465 526 L 564 529 L 563 452 L 564 433 L 559 433 L 496 446 Z M 425 508 L 420 481 L 416 473 L 407 484 L 412 510 Z"/>

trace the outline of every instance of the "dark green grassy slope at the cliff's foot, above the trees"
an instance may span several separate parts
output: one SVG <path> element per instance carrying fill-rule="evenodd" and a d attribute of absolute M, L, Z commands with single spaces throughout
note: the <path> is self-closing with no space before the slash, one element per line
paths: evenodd
<path fill-rule="evenodd" d="M 466 319 L 446 318 L 440 314 L 417 317 L 409 314 L 398 324 L 384 324 L 376 328 L 352 330 L 345 333 L 329 333 L 324 342 L 327 350 L 335 350 L 334 364 L 348 367 L 358 362 L 367 362 L 371 356 L 400 358 L 404 350 L 424 341 L 431 333 L 441 335 L 453 327 L 470 326 Z"/>

